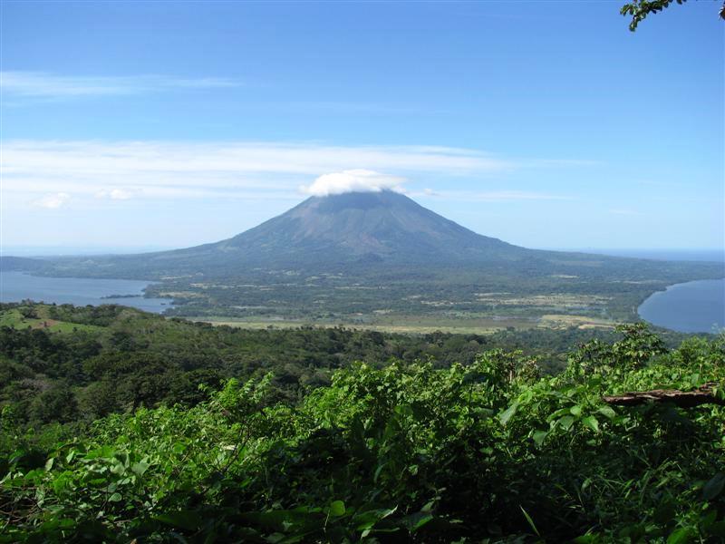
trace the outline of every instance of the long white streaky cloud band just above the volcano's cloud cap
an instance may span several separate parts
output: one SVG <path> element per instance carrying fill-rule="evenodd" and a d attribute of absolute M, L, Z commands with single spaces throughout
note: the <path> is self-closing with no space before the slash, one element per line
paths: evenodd
<path fill-rule="evenodd" d="M 510 170 L 516 165 L 457 148 L 330 146 L 275 142 L 8 141 L 4 171 L 73 175 L 165 174 L 237 176 L 274 173 L 320 176 L 351 169 L 441 172 L 453 175 Z"/>

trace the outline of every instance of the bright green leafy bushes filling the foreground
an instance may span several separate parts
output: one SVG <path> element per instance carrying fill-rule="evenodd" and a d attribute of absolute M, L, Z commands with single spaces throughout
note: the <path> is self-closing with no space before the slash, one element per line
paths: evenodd
<path fill-rule="evenodd" d="M 47 307 L 23 311 L 33 309 Z M 21 352 L 16 346 L 11 352 L 6 343 L 17 341 L 18 332 L 57 343 L 55 352 L 35 352 L 36 361 L 63 349 L 81 353 L 98 342 L 104 365 L 97 354 L 80 367 L 102 368 L 121 388 L 133 383 L 138 387 L 130 390 L 147 393 L 152 388 L 145 389 L 148 384 L 136 374 L 166 379 L 160 361 L 136 359 L 150 356 L 148 339 L 154 335 L 166 346 L 172 338 L 185 349 L 198 343 L 209 357 L 203 345 L 215 337 L 226 338 L 233 353 L 262 333 L 273 335 L 266 338 L 267 349 L 275 340 L 298 340 L 295 335 L 321 341 L 329 334 L 227 330 L 117 306 L 54 311 L 105 332 L 94 338 L 94 330 L 5 327 L 5 372 L 19 364 Z M 133 334 L 118 336 L 129 322 L 137 327 Z M 380 335 L 333 332 L 361 343 Z M 245 339 L 235 344 L 229 340 L 234 335 Z M 382 345 L 394 338 L 380 336 Z M 140 347 L 144 338 L 149 345 Z M 111 345 L 124 343 L 135 343 L 137 351 L 111 355 Z M 613 407 L 602 398 L 715 384 L 715 402 L 725 401 L 725 338 L 691 337 L 669 349 L 643 325 L 627 325 L 616 337 L 594 338 L 571 351 L 565 370 L 554 375 L 542 372 L 531 351 L 478 347 L 465 364 L 418 356 L 393 356 L 382 364 L 370 352 L 361 357 L 368 363 L 339 364 L 326 370 L 329 381 L 297 384 L 295 395 L 280 394 L 278 377 L 268 368 L 251 374 L 237 368 L 247 378 L 228 379 L 218 391 L 199 379 L 200 388 L 189 388 L 198 396 L 119 404 L 92 423 L 92 413 L 81 410 L 66 414 L 63 424 L 43 423 L 29 418 L 27 405 L 5 398 L 0 541 L 725 538 L 723 406 Z M 55 372 L 72 374 L 78 365 L 63 356 L 58 361 L 64 366 Z M 169 361 L 178 356 L 169 352 Z M 150 364 L 148 374 L 144 364 Z M 70 391 L 82 391 L 81 383 L 69 385 Z M 92 389 L 88 396 L 102 402 L 105 394 Z M 31 403 L 30 413 L 50 402 L 43 397 L 43 403 Z M 55 421 L 61 405 L 55 404 Z"/>

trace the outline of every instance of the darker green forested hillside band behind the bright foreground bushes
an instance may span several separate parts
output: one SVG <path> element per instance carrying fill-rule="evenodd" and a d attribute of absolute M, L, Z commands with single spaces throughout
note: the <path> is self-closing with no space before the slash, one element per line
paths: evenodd
<path fill-rule="evenodd" d="M 442 368 L 469 365 L 482 351 L 502 348 L 536 356 L 544 372 L 554 373 L 574 345 L 614 337 L 575 328 L 496 335 L 388 335 L 309 326 L 254 331 L 122 306 L 2 305 L 0 324 L 14 322 L 19 307 L 65 326 L 0 325 L 0 404 L 13 404 L 35 427 L 90 423 L 141 405 L 191 406 L 208 398 L 199 384 L 216 389 L 224 379 L 270 372 L 275 398 L 297 403 L 309 389 L 330 384 L 334 370 L 358 360 L 382 365 L 430 357 Z"/>

